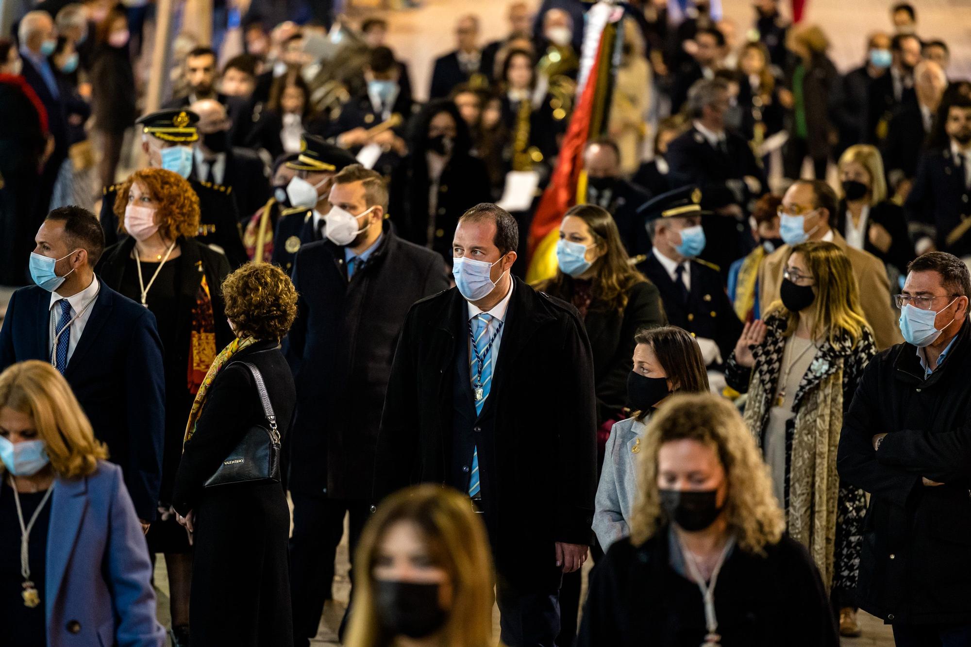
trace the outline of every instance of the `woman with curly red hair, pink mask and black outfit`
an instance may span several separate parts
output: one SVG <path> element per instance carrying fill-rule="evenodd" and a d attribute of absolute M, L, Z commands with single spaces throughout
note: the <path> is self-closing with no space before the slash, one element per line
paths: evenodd
<path fill-rule="evenodd" d="M 169 574 L 173 644 L 187 644 L 192 556 L 172 511 L 185 419 L 218 349 L 232 340 L 219 286 L 224 255 L 195 240 L 199 198 L 182 176 L 147 168 L 117 191 L 118 230 L 127 237 L 105 250 L 96 271 L 106 285 L 151 310 L 165 349 L 165 449 L 151 554 L 164 553 Z"/>

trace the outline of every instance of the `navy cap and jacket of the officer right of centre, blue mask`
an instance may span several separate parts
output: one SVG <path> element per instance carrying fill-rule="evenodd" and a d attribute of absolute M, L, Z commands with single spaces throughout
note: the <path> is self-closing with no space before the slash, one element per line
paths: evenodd
<path fill-rule="evenodd" d="M 698 187 L 662 193 L 645 204 L 642 213 L 647 214 L 649 226 L 661 218 L 709 215 L 702 210 L 701 189 Z M 731 356 L 742 334 L 742 322 L 728 300 L 719 267 L 706 260 L 687 259 L 691 287 L 685 299 L 683 288 L 675 284 L 653 252 L 639 256 L 638 260 L 637 269 L 651 279 L 661 293 L 668 322 L 686 329 L 693 337 L 714 340 L 722 360 Z"/>

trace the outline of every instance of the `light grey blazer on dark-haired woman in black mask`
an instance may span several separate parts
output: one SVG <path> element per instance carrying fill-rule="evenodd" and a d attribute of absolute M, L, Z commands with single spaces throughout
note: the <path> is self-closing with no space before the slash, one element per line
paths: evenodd
<path fill-rule="evenodd" d="M 604 449 L 604 466 L 594 499 L 593 531 L 600 547 L 606 552 L 618 539 L 630 534 L 627 522 L 637 497 L 637 459 L 631 450 L 637 445 L 647 426 L 633 418 L 621 420 L 611 427 Z"/>

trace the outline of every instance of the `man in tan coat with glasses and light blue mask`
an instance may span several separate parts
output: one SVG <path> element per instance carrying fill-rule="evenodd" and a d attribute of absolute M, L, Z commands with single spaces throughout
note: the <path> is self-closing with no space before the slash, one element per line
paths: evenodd
<path fill-rule="evenodd" d="M 838 205 L 835 191 L 821 180 L 798 180 L 788 188 L 779 208 L 780 233 L 786 244 L 767 255 L 758 270 L 762 316 L 779 300 L 779 287 L 792 246 L 808 240 L 826 241 L 839 247 L 850 260 L 859 286 L 860 308 L 873 328 L 877 348 L 883 350 L 900 342 L 900 331 L 890 307 L 887 269 L 877 256 L 850 247 L 833 228 Z"/>

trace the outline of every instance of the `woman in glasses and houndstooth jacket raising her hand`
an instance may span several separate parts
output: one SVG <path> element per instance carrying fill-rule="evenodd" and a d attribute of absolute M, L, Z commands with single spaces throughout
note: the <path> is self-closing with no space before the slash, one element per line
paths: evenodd
<path fill-rule="evenodd" d="M 854 589 L 865 500 L 842 487 L 836 448 L 866 363 L 876 354 L 853 268 L 833 243 L 795 245 L 781 301 L 747 323 L 725 380 L 747 392 L 745 422 L 769 465 L 789 534 L 820 567 L 840 632 L 859 635 Z"/>

